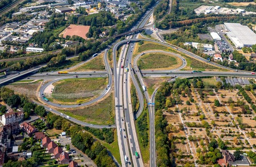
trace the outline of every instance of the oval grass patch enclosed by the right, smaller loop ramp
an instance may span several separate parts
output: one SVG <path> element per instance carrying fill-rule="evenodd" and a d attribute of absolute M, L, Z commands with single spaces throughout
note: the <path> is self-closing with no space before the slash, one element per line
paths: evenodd
<path fill-rule="evenodd" d="M 165 53 L 147 53 L 140 57 L 140 69 L 171 68 L 178 64 L 176 57 Z"/>

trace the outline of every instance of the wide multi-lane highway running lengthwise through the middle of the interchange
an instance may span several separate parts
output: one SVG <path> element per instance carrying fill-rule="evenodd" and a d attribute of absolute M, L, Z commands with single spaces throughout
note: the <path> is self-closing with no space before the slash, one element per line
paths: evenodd
<path fill-rule="evenodd" d="M 149 18 L 149 15 L 152 14 L 154 7 L 151 8 L 151 11 L 146 14 L 144 17 L 141 18 L 141 24 L 140 26 L 143 27 L 146 22 L 147 18 Z M 138 27 L 135 25 L 132 29 L 135 29 Z M 129 37 L 130 38 L 130 37 Z M 121 42 L 122 43 L 122 42 Z M 126 42 L 127 43 L 127 42 Z M 144 166 L 141 158 L 141 153 L 139 149 L 139 142 L 137 141 L 136 136 L 136 129 L 135 129 L 135 123 L 134 123 L 134 114 L 132 113 L 132 107 L 131 107 L 131 95 L 130 95 L 130 72 L 124 72 L 125 68 L 121 68 L 121 65 L 123 64 L 124 67 L 129 67 L 131 63 L 132 58 L 132 47 L 128 44 L 125 44 L 122 47 L 119 62 L 116 64 L 116 50 L 117 47 L 119 47 L 120 43 L 117 42 L 113 47 L 113 62 L 114 62 L 114 88 L 115 88 L 115 118 L 116 118 L 116 127 L 117 129 L 117 136 L 119 141 L 119 150 L 120 150 L 120 156 L 122 161 L 122 166 L 128 166 L 130 163 L 132 163 L 133 166 Z M 126 53 L 128 53 L 126 55 Z M 125 55 L 127 56 L 125 58 Z M 141 94 L 142 95 L 142 94 Z M 143 97 L 142 97 L 143 101 Z M 143 105 L 140 106 L 143 109 Z M 140 107 L 140 108 L 141 108 Z M 125 116 L 125 117 L 124 117 Z M 124 128 L 124 129 L 122 129 Z M 125 133 L 124 133 L 125 130 Z M 126 135 L 126 138 L 124 137 Z M 124 140 L 126 139 L 126 140 Z M 127 142 L 129 141 L 129 143 Z M 129 149 L 130 148 L 130 152 Z M 139 158 L 135 158 L 135 151 L 139 153 Z M 130 163 L 125 163 L 124 156 L 127 156 L 127 161 Z M 130 156 L 131 155 L 131 156 Z"/>

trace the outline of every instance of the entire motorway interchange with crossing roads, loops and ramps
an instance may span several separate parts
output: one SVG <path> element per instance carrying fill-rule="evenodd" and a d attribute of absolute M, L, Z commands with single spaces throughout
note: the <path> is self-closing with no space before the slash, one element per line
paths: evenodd
<path fill-rule="evenodd" d="M 149 18 L 150 14 L 152 14 L 154 7 L 150 9 L 150 12 L 148 12 L 142 19 L 141 22 L 136 24 L 133 28 L 141 28 L 144 27 L 146 24 L 147 19 Z M 164 41 L 159 42 L 159 41 L 153 41 L 151 39 L 136 39 L 137 36 L 129 36 L 127 37 L 124 41 L 120 41 L 114 44 L 113 46 L 113 60 L 114 62 L 116 61 L 117 55 L 116 55 L 116 50 L 122 45 L 121 53 L 119 55 L 119 60 L 117 63 L 114 63 L 113 67 L 113 72 L 111 71 L 110 64 L 107 60 L 107 49 L 105 50 L 104 54 L 104 62 L 106 66 L 106 71 L 104 72 L 83 72 L 83 73 L 70 73 L 70 74 L 65 74 L 65 75 L 58 75 L 56 73 L 50 73 L 46 75 L 46 73 L 43 74 L 34 74 L 29 77 L 31 78 L 48 78 L 48 79 L 54 79 L 52 82 L 47 83 L 43 85 L 40 89 L 40 92 L 38 92 L 39 97 L 41 100 L 43 100 L 42 94 L 47 87 L 48 84 L 51 84 L 53 82 L 56 82 L 57 80 L 61 80 L 63 78 L 73 78 L 74 75 L 78 75 L 78 77 L 109 77 L 109 85 L 107 85 L 106 89 L 104 92 L 101 93 L 101 95 L 90 102 L 83 103 L 81 105 L 59 105 L 51 102 L 47 102 L 46 104 L 40 104 L 44 105 L 44 107 L 47 110 L 50 110 L 51 112 L 61 115 L 61 117 L 67 118 L 67 115 L 64 115 L 60 112 L 58 112 L 55 109 L 52 109 L 51 107 L 57 107 L 57 108 L 74 108 L 74 107 L 80 107 L 80 106 L 86 106 L 89 104 L 93 104 L 97 102 L 98 100 L 104 98 L 111 90 L 112 88 L 112 82 L 114 80 L 114 89 L 115 89 L 115 117 L 116 117 L 116 125 L 92 125 L 92 124 L 87 124 L 84 122 L 81 122 L 80 120 L 74 119 L 74 118 L 68 118 L 72 122 L 83 125 L 83 126 L 90 126 L 93 128 L 112 128 L 113 126 L 116 126 L 117 129 L 117 135 L 118 135 L 118 143 L 119 143 L 119 148 L 120 148 L 120 156 L 121 156 L 121 165 L 122 166 L 144 166 L 142 158 L 141 158 L 141 153 L 140 153 L 140 147 L 139 147 L 139 142 L 137 141 L 137 134 L 136 134 L 136 129 L 135 129 L 135 122 L 134 119 L 139 117 L 141 114 L 143 107 L 144 107 L 144 96 L 146 98 L 148 109 L 149 109 L 149 118 L 150 118 L 150 166 L 156 166 L 156 151 L 155 151 L 155 125 L 154 125 L 154 95 L 157 91 L 155 89 L 154 93 L 150 97 L 147 91 L 144 91 L 142 93 L 141 91 L 141 86 L 145 85 L 142 77 L 161 77 L 168 75 L 169 77 L 175 76 L 176 77 L 181 77 L 181 76 L 209 76 L 209 75 L 221 75 L 221 76 L 240 76 L 240 77 L 254 77 L 254 75 L 250 74 L 249 72 L 203 72 L 203 73 L 191 73 L 191 71 L 179 71 L 181 68 L 184 68 L 186 66 L 186 61 L 183 57 L 181 57 L 179 54 L 171 53 L 175 55 L 176 57 L 180 58 L 183 62 L 181 67 L 177 69 L 172 69 L 172 70 L 154 70 L 154 71 L 140 71 L 137 68 L 137 60 L 142 54 L 136 55 L 134 62 L 132 63 L 132 52 L 134 49 L 135 42 L 139 41 L 149 41 L 149 42 L 155 42 L 159 44 L 166 45 L 171 48 L 176 48 L 173 45 L 166 44 Z M 176 48 L 177 49 L 177 48 Z M 205 63 L 208 63 L 207 60 L 199 57 L 198 55 L 195 55 L 193 53 L 190 53 L 184 49 L 178 48 L 179 52 L 185 53 L 190 55 L 190 57 L 193 57 L 195 59 L 198 59 L 200 61 L 203 61 Z M 154 52 L 165 52 L 161 50 L 156 50 Z M 145 52 L 145 53 L 152 53 L 152 51 Z M 169 53 L 169 52 L 165 52 Z M 211 65 L 215 65 L 217 67 L 225 68 L 219 64 L 215 64 L 213 62 L 210 62 Z M 130 69 L 130 71 L 126 71 L 125 68 L 121 68 L 122 66 L 127 67 Z M 13 80 L 15 78 L 20 77 L 21 75 L 29 74 L 33 72 L 35 69 L 40 69 L 40 67 L 29 69 L 25 72 L 21 72 L 20 74 L 13 75 L 12 77 L 8 77 L 6 79 L 1 79 L 0 84 L 6 83 L 10 80 Z M 135 73 L 132 72 L 132 68 L 134 68 Z M 137 82 L 135 75 L 137 75 L 139 79 L 139 83 Z M 138 99 L 140 103 L 139 110 L 137 111 L 136 115 L 132 113 L 132 108 L 131 108 L 131 94 L 130 94 L 130 80 L 135 85 L 137 94 L 138 94 Z M 170 81 L 173 81 L 175 79 L 172 79 Z M 51 107 L 49 107 L 51 106 Z M 139 154 L 139 157 L 135 157 L 135 151 Z"/>

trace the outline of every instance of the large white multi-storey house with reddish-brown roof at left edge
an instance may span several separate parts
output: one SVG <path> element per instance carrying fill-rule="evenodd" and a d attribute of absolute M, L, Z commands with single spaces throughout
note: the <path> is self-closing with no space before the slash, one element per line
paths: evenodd
<path fill-rule="evenodd" d="M 23 112 L 13 112 L 13 110 L 10 108 L 6 114 L 2 115 L 1 123 L 3 125 L 12 124 L 16 122 L 21 122 L 24 118 Z"/>

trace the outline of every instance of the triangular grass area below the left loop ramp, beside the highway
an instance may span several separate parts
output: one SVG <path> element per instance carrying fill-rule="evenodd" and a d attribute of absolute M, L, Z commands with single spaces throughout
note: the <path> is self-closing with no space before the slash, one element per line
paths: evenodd
<path fill-rule="evenodd" d="M 108 125 L 115 124 L 115 102 L 113 94 L 102 100 L 101 102 L 94 104 L 87 108 L 73 108 L 60 110 L 62 113 L 69 115 L 70 117 L 87 122 L 90 124 Z"/>

